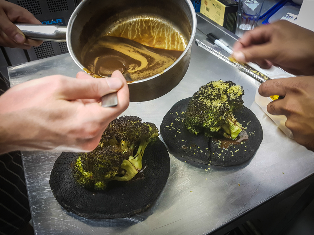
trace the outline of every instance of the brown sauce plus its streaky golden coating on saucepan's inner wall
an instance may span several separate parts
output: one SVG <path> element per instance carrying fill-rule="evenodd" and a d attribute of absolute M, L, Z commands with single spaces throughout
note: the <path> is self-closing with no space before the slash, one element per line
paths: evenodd
<path fill-rule="evenodd" d="M 119 19 L 100 35 L 91 35 L 80 55 L 84 70 L 97 78 L 115 70 L 133 81 L 161 74 L 188 44 L 179 28 L 154 15 Z"/>

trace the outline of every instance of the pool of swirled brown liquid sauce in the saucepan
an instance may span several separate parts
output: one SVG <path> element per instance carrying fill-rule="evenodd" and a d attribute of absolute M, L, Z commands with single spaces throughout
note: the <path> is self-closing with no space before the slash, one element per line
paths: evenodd
<path fill-rule="evenodd" d="M 94 77 L 107 77 L 115 70 L 127 72 L 133 81 L 162 73 L 182 54 L 182 51 L 145 46 L 136 41 L 102 36 L 83 57 L 83 65 Z"/>

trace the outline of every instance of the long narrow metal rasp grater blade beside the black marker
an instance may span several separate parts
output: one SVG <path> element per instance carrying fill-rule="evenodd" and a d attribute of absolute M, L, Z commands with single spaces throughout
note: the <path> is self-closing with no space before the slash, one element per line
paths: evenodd
<path fill-rule="evenodd" d="M 236 62 L 235 60 L 230 60 L 230 54 L 226 52 L 221 47 L 214 45 L 207 40 L 195 40 L 196 45 L 202 47 L 203 49 L 207 50 L 211 54 L 217 56 L 219 59 L 224 60 L 226 63 L 232 65 L 233 67 L 236 67 L 240 71 L 246 73 L 247 75 L 251 76 L 255 80 L 259 81 L 260 83 L 263 83 L 267 80 L 270 80 L 268 76 L 265 74 L 257 71 L 256 69 L 252 68 L 249 65 L 246 64 L 240 64 Z"/>

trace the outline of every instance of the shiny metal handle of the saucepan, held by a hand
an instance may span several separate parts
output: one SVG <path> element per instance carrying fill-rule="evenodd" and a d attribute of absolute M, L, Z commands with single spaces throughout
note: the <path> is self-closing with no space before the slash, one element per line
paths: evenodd
<path fill-rule="evenodd" d="M 67 41 L 66 26 L 25 23 L 16 23 L 15 25 L 23 32 L 26 38 L 54 42 Z"/>

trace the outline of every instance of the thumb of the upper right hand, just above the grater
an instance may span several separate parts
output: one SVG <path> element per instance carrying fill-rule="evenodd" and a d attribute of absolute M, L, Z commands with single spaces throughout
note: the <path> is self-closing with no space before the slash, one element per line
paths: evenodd
<path fill-rule="evenodd" d="M 235 51 L 232 56 L 240 63 L 255 62 L 257 60 L 270 60 L 277 55 L 277 50 L 269 43 L 253 45 Z"/>

